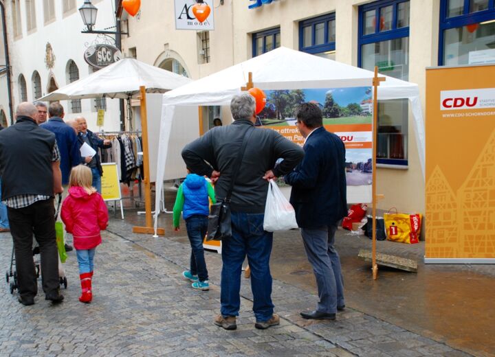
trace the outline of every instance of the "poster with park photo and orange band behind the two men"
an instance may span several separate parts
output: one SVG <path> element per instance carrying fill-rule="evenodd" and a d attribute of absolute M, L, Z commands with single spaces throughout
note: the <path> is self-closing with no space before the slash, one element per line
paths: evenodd
<path fill-rule="evenodd" d="M 323 113 L 323 126 L 346 146 L 348 186 L 371 185 L 373 98 L 371 87 L 296 89 L 265 91 L 267 104 L 259 113 L 259 124 L 278 131 L 300 146 L 305 138 L 296 127 L 298 104 L 311 102 Z"/>

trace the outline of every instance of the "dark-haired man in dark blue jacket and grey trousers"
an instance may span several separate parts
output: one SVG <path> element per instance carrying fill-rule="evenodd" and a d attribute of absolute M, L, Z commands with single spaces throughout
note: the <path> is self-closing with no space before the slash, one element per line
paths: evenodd
<path fill-rule="evenodd" d="M 301 104 L 296 111 L 298 129 L 305 137 L 305 157 L 285 176 L 292 185 L 290 202 L 318 286 L 318 307 L 301 312 L 305 319 L 334 320 L 343 310 L 344 291 L 340 259 L 333 247 L 338 221 L 347 215 L 345 146 L 323 127 L 316 104 Z"/>

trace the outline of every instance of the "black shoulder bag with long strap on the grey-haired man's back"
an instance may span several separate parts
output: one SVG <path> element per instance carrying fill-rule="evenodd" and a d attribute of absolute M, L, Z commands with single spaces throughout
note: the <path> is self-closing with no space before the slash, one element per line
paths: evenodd
<path fill-rule="evenodd" d="M 234 166 L 234 172 L 232 174 L 232 180 L 230 181 L 230 187 L 225 195 L 225 198 L 219 203 L 215 203 L 210 208 L 210 215 L 208 216 L 208 234 L 206 240 L 223 240 L 230 238 L 232 235 L 232 222 L 230 221 L 230 197 L 232 196 L 232 189 L 234 189 L 234 182 L 239 174 L 239 168 L 241 166 L 242 158 L 244 156 L 245 148 L 248 146 L 248 140 L 254 131 L 254 126 L 250 126 L 243 137 L 243 143 L 239 155 L 237 156 L 236 165 Z"/>

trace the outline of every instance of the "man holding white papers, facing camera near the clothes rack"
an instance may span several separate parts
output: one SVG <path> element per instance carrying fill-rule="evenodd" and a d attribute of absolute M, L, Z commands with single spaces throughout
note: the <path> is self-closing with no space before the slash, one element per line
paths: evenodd
<path fill-rule="evenodd" d="M 111 148 L 111 142 L 108 139 L 100 139 L 91 130 L 88 130 L 86 119 L 84 117 L 76 118 L 79 126 L 78 140 L 80 143 L 81 163 L 87 165 L 93 173 L 92 186 L 101 194 L 101 176 L 103 169 L 100 162 L 98 148 Z"/>

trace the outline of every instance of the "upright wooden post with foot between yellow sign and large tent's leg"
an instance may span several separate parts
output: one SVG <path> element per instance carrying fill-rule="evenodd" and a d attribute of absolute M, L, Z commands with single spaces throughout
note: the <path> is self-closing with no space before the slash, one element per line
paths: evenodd
<path fill-rule="evenodd" d="M 148 117 L 146 113 L 146 88 L 140 87 L 141 101 L 141 128 L 143 141 L 143 166 L 144 166 L 144 207 L 146 211 L 146 227 L 133 227 L 134 233 L 155 234 L 153 219 L 151 218 L 151 182 L 149 173 L 149 146 L 148 146 Z M 157 209 L 159 209 L 157 207 Z M 164 235 L 165 229 L 157 229 L 157 234 Z"/>

